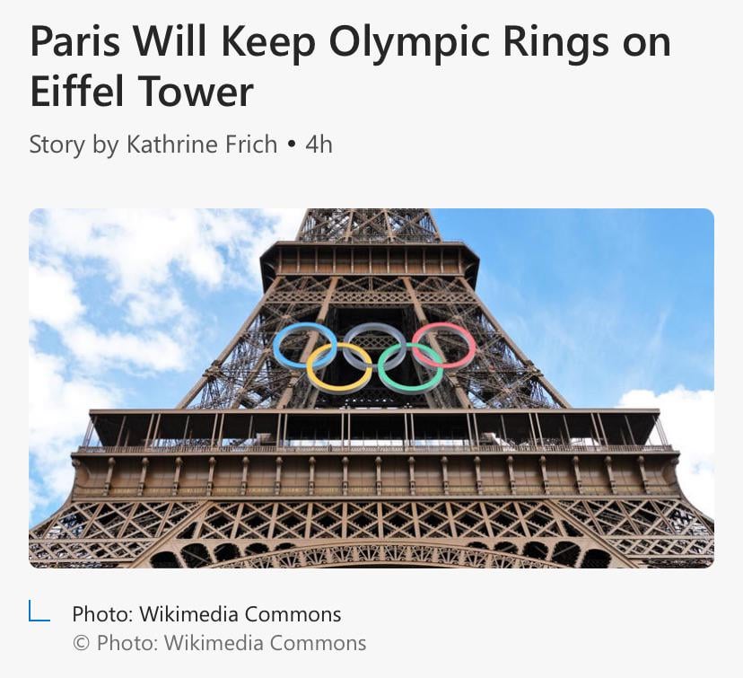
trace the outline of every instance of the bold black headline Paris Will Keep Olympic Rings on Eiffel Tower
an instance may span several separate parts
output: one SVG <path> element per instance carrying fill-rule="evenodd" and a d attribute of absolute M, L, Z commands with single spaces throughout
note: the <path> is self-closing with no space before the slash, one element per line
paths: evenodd
<path fill-rule="evenodd" d="M 211 32 L 210 32 L 211 31 Z M 310 32 L 265 33 L 247 24 L 222 25 L 207 30 L 205 23 L 133 25 L 131 34 L 102 31 L 98 23 L 88 32 L 60 32 L 52 26 L 31 27 L 32 57 L 118 57 L 125 47 L 138 57 L 280 58 L 291 67 L 329 49 L 336 57 L 363 57 L 371 66 L 389 65 L 398 58 L 427 59 L 433 67 L 452 58 L 549 57 L 568 66 L 584 66 L 618 49 L 628 57 L 669 57 L 670 39 L 662 32 L 622 35 L 616 43 L 606 32 L 541 31 L 538 24 L 506 24 L 499 34 L 473 31 L 467 23 L 441 33 L 389 33 L 374 31 L 370 23 L 341 24 L 322 41 Z M 248 106 L 257 84 L 252 82 L 170 82 L 162 74 L 142 73 L 128 82 L 118 73 L 103 81 L 91 72 L 68 71 L 31 75 L 31 106 L 123 106 L 132 96 L 145 106 Z M 125 86 L 126 84 L 126 86 Z"/>

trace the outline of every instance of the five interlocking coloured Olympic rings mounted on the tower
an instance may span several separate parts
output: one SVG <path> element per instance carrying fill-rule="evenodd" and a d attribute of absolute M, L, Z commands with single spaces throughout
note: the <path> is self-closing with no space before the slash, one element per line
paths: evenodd
<path fill-rule="evenodd" d="M 281 352 L 281 345 L 284 339 L 297 330 L 314 330 L 319 332 L 325 339 L 328 339 L 327 344 L 312 351 L 306 363 L 290 360 Z M 360 334 L 371 330 L 385 332 L 395 340 L 392 346 L 385 348 L 381 352 L 376 365 L 374 365 L 371 356 L 364 348 L 353 343 L 353 340 Z M 467 355 L 455 362 L 444 363 L 443 357 L 436 350 L 421 343 L 425 335 L 433 330 L 447 330 L 458 335 L 467 344 Z M 325 383 L 316 374 L 316 371 L 320 367 L 325 367 L 335 360 L 338 348 L 343 349 L 343 356 L 349 365 L 363 370 L 362 377 L 354 383 L 342 385 Z M 413 349 L 413 358 L 418 365 L 422 365 L 426 369 L 435 370 L 435 374 L 427 382 L 418 385 L 406 385 L 396 382 L 389 376 L 389 370 L 394 369 L 405 360 L 408 348 Z M 379 374 L 381 383 L 387 386 L 390 391 L 402 394 L 429 392 L 441 383 L 444 370 L 457 370 L 469 365 L 475 358 L 477 347 L 475 338 L 468 330 L 455 325 L 453 322 L 431 322 L 424 325 L 424 327 L 415 332 L 412 341 L 406 341 L 405 336 L 400 330 L 384 322 L 363 322 L 360 325 L 356 325 L 352 330 L 346 332 L 343 341 L 338 341 L 336 335 L 331 330 L 317 322 L 294 322 L 276 334 L 273 349 L 275 360 L 279 365 L 288 369 L 306 370 L 310 383 L 320 392 L 338 395 L 360 391 L 371 381 L 371 375 L 374 372 Z"/>

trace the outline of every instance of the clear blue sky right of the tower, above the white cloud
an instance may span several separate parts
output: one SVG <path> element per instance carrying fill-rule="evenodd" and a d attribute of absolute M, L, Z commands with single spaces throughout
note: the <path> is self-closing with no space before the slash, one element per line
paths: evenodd
<path fill-rule="evenodd" d="M 436 210 L 481 258 L 477 290 L 574 407 L 713 388 L 706 210 Z"/>

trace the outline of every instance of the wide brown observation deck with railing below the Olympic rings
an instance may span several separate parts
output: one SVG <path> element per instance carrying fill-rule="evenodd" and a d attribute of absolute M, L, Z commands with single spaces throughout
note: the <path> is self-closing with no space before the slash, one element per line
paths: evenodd
<path fill-rule="evenodd" d="M 657 409 L 100 409 L 83 497 L 677 496 Z"/>

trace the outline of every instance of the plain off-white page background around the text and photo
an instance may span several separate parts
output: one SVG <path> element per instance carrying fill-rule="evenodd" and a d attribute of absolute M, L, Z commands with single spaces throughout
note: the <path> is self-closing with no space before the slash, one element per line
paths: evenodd
<path fill-rule="evenodd" d="M 132 671 L 201 674 L 729 675 L 739 602 L 739 5 L 724 2 L 511 3 L 36 2 L 6 11 L 4 64 L 5 662 L 31 675 Z M 207 22 L 213 56 L 135 57 L 133 22 Z M 31 23 L 122 34 L 114 58 L 31 59 Z M 219 56 L 223 22 L 310 31 L 317 53 Z M 386 31 L 494 34 L 489 58 L 425 58 L 373 67 L 329 54 L 339 23 Z M 608 32 L 608 57 L 500 56 L 504 23 Z M 669 58 L 630 58 L 625 32 L 663 31 Z M 31 110 L 31 74 L 127 74 L 123 109 Z M 146 109 L 135 75 L 255 82 L 247 109 Z M 28 154 L 32 133 L 222 136 L 323 132 L 335 153 L 78 161 Z M 706 571 L 36 571 L 27 561 L 26 224 L 33 207 L 708 207 L 716 223 L 717 560 Z M 485 254 L 485 253 L 483 253 Z M 517 256 L 529 256 L 528 251 Z M 48 624 L 26 622 L 26 601 Z M 76 652 L 71 606 L 139 603 L 341 607 L 338 635 L 369 638 L 354 655 L 149 656 Z M 730 620 L 730 621 L 729 621 Z M 120 628 L 124 635 L 143 629 Z M 197 629 L 202 632 L 205 629 Z M 206 629 L 208 630 L 208 629 Z M 315 635 L 310 627 L 285 629 Z M 153 632 L 153 629 L 149 630 Z M 329 632 L 330 630 L 328 630 Z M 735 634 L 737 637 L 738 634 Z M 25 668 L 24 668 L 25 666 Z M 185 668 L 184 668 L 185 667 Z"/>

